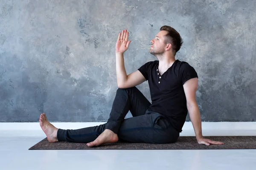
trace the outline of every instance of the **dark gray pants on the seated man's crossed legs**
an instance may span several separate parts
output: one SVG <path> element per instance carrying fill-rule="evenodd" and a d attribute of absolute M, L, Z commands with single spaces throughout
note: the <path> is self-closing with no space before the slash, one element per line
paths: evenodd
<path fill-rule="evenodd" d="M 112 130 L 122 142 L 173 143 L 179 137 L 169 120 L 160 113 L 148 111 L 151 103 L 136 88 L 118 88 L 108 122 L 77 130 L 58 129 L 58 141 L 87 143 L 105 129 Z M 131 118 L 125 119 L 128 111 Z"/>

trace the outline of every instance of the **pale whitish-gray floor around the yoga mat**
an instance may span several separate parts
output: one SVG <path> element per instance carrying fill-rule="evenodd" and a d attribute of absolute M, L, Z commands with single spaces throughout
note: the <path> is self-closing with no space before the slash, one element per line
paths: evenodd
<path fill-rule="evenodd" d="M 256 135 L 252 130 L 204 133 Z M 181 136 L 193 136 L 193 131 L 185 131 Z M 256 150 L 28 150 L 44 137 L 37 130 L 0 131 L 0 170 L 256 169 Z"/>

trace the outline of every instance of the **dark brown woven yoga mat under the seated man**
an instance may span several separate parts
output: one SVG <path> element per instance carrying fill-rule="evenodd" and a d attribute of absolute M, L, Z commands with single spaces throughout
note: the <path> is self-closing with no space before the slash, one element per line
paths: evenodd
<path fill-rule="evenodd" d="M 222 145 L 198 144 L 195 136 L 180 136 L 172 144 L 146 144 L 116 142 L 98 147 L 87 147 L 85 143 L 55 142 L 49 143 L 47 138 L 38 142 L 29 150 L 201 150 L 201 149 L 256 149 L 256 136 L 204 136 L 207 139 L 220 141 Z"/>

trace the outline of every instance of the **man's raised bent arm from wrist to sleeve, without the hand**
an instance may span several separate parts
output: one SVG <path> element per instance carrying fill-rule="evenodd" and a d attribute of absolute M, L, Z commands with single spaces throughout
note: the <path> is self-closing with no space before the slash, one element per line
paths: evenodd
<path fill-rule="evenodd" d="M 116 53 L 116 78 L 118 88 L 131 88 L 146 81 L 138 70 L 129 75 L 126 74 L 123 53 Z"/>

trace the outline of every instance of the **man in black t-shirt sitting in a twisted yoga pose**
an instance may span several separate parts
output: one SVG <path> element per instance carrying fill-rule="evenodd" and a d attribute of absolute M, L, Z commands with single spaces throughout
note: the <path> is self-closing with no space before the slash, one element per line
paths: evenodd
<path fill-rule="evenodd" d="M 108 122 L 94 127 L 63 130 L 54 127 L 45 114 L 40 126 L 49 142 L 68 141 L 99 146 L 117 141 L 145 143 L 177 142 L 189 116 L 198 144 L 223 144 L 202 136 L 201 116 L 196 102 L 198 75 L 188 63 L 175 59 L 183 43 L 180 34 L 170 26 L 162 26 L 151 40 L 150 53 L 158 60 L 147 62 L 127 75 L 124 52 L 131 41 L 126 30 L 116 42 L 116 76 L 118 89 Z M 148 80 L 152 104 L 135 87 Z M 133 117 L 125 119 L 131 111 Z"/>

